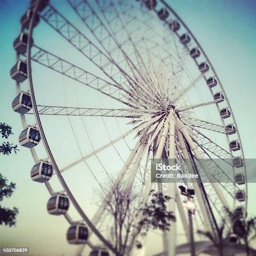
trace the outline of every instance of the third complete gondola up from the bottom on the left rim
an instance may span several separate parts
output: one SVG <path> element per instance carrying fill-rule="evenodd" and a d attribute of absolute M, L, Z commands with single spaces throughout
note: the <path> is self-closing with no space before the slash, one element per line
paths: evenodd
<path fill-rule="evenodd" d="M 31 179 L 36 182 L 46 182 L 51 179 L 53 167 L 49 162 L 40 161 L 31 169 Z"/>

